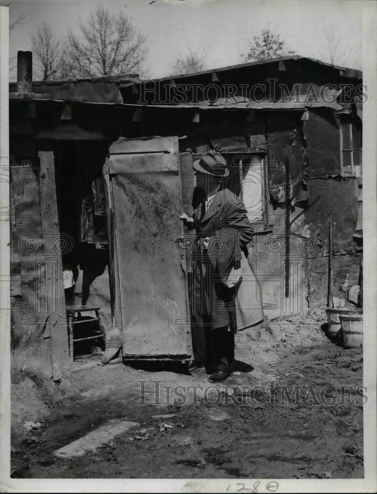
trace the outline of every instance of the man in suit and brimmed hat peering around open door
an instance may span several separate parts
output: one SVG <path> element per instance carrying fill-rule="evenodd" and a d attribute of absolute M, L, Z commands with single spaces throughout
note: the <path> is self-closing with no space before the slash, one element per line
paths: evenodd
<path fill-rule="evenodd" d="M 234 333 L 241 315 L 238 312 L 243 310 L 237 307 L 245 276 L 242 261 L 247 265 L 246 246 L 253 238 L 253 229 L 243 203 L 224 187 L 229 174 L 224 157 L 216 151 L 207 152 L 193 168 L 195 212 L 191 218 L 186 213 L 180 216 L 196 234 L 189 293 L 193 363 L 212 371 L 209 381 L 220 382 L 234 368 Z M 263 319 L 258 302 L 257 312 L 242 315 L 243 328 Z"/>

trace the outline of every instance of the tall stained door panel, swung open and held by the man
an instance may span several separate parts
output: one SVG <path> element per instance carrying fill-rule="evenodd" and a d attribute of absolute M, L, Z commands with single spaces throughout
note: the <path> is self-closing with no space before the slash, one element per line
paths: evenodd
<path fill-rule="evenodd" d="M 123 355 L 188 359 L 178 138 L 119 139 L 108 163 Z"/>

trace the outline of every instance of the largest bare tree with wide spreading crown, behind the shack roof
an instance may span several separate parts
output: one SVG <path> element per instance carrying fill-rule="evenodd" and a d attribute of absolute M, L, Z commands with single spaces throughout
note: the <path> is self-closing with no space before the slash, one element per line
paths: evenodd
<path fill-rule="evenodd" d="M 92 11 L 79 24 L 79 34 L 68 35 L 67 60 L 71 76 L 109 76 L 143 73 L 148 53 L 146 38 L 137 33 L 123 13 L 112 15 L 104 7 Z"/>

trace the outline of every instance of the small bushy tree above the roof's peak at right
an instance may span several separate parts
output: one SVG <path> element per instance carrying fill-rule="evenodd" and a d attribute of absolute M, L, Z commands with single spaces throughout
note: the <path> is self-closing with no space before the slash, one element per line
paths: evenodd
<path fill-rule="evenodd" d="M 254 36 L 253 41 L 248 44 L 247 51 L 240 55 L 245 62 L 254 62 L 256 60 L 268 60 L 270 58 L 293 55 L 294 53 L 294 51 L 286 47 L 285 41 L 281 40 L 278 33 L 274 33 L 267 28 L 259 36 Z"/>

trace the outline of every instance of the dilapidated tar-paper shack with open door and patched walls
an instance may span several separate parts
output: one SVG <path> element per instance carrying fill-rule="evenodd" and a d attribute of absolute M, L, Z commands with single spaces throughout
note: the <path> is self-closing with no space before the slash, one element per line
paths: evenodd
<path fill-rule="evenodd" d="M 330 213 L 333 294 L 358 284 L 359 71 L 296 55 L 158 80 L 15 89 L 11 299 L 20 365 L 52 362 L 58 378 L 69 361 L 62 260 L 75 272 L 75 303 L 100 307 L 106 331 L 113 303 L 125 359 L 189 359 L 189 242 L 178 216 L 192 211 L 192 161 L 210 149 L 226 157 L 227 187 L 255 230 L 249 258 L 266 318 L 315 322 L 326 307 Z"/>

